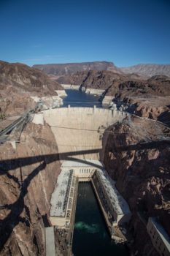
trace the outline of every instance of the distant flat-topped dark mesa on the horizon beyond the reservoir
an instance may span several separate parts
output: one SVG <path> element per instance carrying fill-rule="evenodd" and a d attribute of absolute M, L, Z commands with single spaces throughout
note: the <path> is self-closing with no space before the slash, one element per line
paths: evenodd
<path fill-rule="evenodd" d="M 66 64 L 39 64 L 33 66 L 36 69 L 42 70 L 47 75 L 68 75 L 77 71 L 85 70 L 107 70 L 120 72 L 119 69 L 112 62 L 108 61 L 94 61 L 82 63 L 66 63 Z"/>

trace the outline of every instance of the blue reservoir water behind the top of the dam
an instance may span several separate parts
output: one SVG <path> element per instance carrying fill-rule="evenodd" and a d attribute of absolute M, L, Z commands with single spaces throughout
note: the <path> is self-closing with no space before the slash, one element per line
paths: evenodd
<path fill-rule="evenodd" d="M 67 97 L 63 98 L 63 106 L 67 107 L 93 107 L 102 108 L 101 102 L 98 101 L 99 96 L 94 96 L 93 94 L 85 94 L 85 92 L 78 90 L 65 90 Z"/>

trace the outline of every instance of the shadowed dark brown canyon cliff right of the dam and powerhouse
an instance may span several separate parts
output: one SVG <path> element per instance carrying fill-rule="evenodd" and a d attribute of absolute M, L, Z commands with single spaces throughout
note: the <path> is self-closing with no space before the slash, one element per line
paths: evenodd
<path fill-rule="evenodd" d="M 170 236 L 170 149 L 169 129 L 152 121 L 134 118 L 109 128 L 104 165 L 116 180 L 117 189 L 127 200 L 133 217 L 133 255 L 146 255 L 152 248 L 147 229 L 138 212 L 148 217 L 160 217 Z M 107 136 L 107 134 L 106 134 Z M 152 250 L 151 255 L 158 255 Z"/>

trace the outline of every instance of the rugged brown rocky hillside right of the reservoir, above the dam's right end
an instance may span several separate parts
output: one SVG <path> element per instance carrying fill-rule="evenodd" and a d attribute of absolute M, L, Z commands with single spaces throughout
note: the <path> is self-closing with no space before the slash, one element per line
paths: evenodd
<path fill-rule="evenodd" d="M 114 80 L 103 97 L 113 97 L 131 113 L 170 125 L 170 78 Z"/>

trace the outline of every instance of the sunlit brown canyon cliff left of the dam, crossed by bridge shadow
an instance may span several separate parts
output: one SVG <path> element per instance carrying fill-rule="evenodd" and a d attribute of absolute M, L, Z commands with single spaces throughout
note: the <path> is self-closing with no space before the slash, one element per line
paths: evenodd
<path fill-rule="evenodd" d="M 16 149 L 1 145 L 0 166 L 0 255 L 45 255 L 44 222 L 60 172 L 50 127 L 28 124 Z"/>

